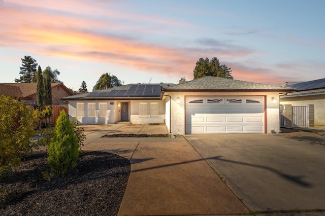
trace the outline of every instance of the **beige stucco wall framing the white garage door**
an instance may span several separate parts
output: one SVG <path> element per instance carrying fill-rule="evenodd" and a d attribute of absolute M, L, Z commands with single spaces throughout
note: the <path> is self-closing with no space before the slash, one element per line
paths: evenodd
<path fill-rule="evenodd" d="M 185 96 L 266 96 L 266 131 L 265 133 L 272 133 L 273 131 L 280 132 L 279 119 L 279 93 L 277 92 L 236 92 L 236 93 L 216 93 L 216 92 L 165 92 L 165 95 L 171 96 L 171 132 L 172 134 L 185 134 Z M 177 97 L 180 98 L 180 103 L 176 102 Z M 277 99 L 276 103 L 272 102 L 272 97 Z M 169 97 L 164 96 L 163 99 L 168 100 Z M 166 113 L 166 119 L 170 117 Z M 169 124 L 166 124 L 169 128 Z M 170 128 L 169 128 L 170 129 Z"/>

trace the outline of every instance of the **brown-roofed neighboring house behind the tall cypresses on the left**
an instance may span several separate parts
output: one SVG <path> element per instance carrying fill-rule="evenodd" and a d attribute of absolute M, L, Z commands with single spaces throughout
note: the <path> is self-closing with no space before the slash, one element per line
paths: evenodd
<path fill-rule="evenodd" d="M 61 97 L 73 95 L 62 83 L 51 83 L 53 104 L 66 104 Z M 18 100 L 36 104 L 37 83 L 0 83 L 0 95 L 10 96 Z"/>

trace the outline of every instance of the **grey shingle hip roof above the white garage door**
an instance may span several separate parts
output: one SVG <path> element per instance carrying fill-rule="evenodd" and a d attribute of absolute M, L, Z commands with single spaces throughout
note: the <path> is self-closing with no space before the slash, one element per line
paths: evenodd
<path fill-rule="evenodd" d="M 281 87 L 277 85 L 252 83 L 240 80 L 230 80 L 219 77 L 202 77 L 183 84 L 168 87 L 165 91 L 173 90 L 294 90 L 292 88 Z"/>

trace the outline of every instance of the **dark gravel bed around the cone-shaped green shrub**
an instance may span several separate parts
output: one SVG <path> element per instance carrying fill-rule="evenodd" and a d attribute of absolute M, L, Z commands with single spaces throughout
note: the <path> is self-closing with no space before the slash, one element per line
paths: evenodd
<path fill-rule="evenodd" d="M 117 215 L 131 165 L 106 152 L 83 152 L 72 173 L 47 181 L 46 152 L 27 157 L 0 185 L 0 215 Z"/>

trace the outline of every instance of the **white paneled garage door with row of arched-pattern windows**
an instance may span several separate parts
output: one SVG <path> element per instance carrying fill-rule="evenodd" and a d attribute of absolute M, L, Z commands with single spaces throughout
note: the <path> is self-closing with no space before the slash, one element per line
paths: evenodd
<path fill-rule="evenodd" d="M 186 97 L 186 134 L 264 133 L 264 97 Z"/>

